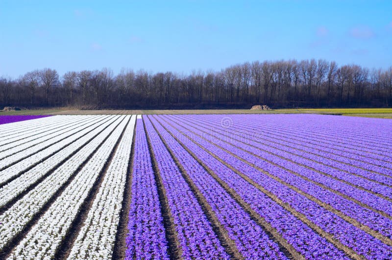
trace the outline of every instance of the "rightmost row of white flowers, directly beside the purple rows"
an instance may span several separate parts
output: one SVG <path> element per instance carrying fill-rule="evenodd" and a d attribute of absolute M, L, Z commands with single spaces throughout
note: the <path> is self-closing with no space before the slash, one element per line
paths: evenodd
<path fill-rule="evenodd" d="M 132 116 L 68 259 L 111 259 L 136 116 Z"/>

